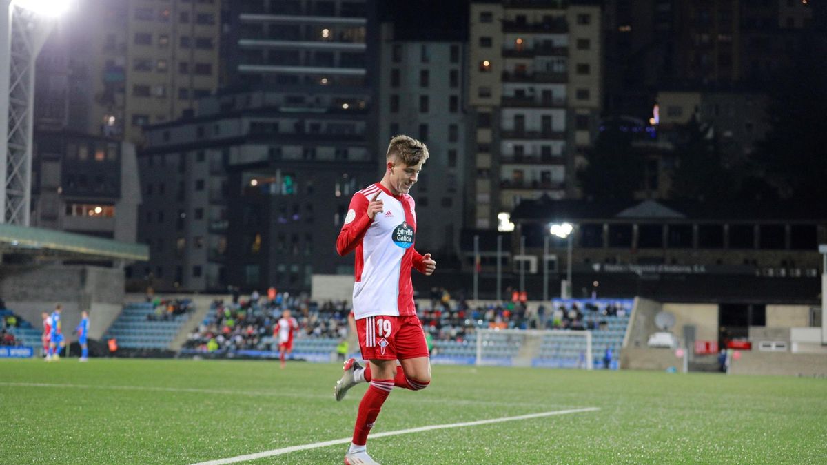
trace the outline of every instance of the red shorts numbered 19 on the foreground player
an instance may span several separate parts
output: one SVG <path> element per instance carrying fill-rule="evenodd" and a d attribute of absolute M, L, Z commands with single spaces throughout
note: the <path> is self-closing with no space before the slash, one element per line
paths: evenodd
<path fill-rule="evenodd" d="M 356 331 L 365 360 L 428 357 L 425 333 L 416 315 L 376 315 L 357 319 Z"/>

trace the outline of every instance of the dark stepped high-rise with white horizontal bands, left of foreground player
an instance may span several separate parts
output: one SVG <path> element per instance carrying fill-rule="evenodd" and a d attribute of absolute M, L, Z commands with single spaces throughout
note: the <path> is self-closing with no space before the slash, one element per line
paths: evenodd
<path fill-rule="evenodd" d="M 381 167 L 366 2 L 226 2 L 223 17 L 227 89 L 146 128 L 143 271 L 158 289 L 289 291 L 351 273 L 336 237 Z"/>

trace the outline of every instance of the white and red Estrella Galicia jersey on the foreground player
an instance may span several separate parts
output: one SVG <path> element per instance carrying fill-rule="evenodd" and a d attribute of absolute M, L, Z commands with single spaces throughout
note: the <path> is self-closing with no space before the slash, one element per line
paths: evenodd
<path fill-rule="evenodd" d="M 367 216 L 376 194 L 384 211 Z M 336 241 L 339 255 L 356 250 L 353 313 L 356 319 L 376 315 L 415 315 L 411 268 L 425 271 L 414 249 L 416 212 L 409 194 L 393 195 L 380 183 L 353 194 L 345 224 Z"/>

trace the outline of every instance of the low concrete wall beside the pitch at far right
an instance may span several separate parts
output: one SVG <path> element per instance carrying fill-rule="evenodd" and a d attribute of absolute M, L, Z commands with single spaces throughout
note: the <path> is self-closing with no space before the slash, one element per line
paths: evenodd
<path fill-rule="evenodd" d="M 740 360 L 732 360 L 729 374 L 827 376 L 827 353 L 742 351 Z"/>

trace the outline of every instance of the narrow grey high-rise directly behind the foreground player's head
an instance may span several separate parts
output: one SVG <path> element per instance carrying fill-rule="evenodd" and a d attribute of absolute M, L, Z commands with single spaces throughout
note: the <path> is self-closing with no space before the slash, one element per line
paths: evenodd
<path fill-rule="evenodd" d="M 399 40 L 382 27 L 377 128 L 380 156 L 391 137 L 425 142 L 430 157 L 415 187 L 416 242 L 423 250 L 456 253 L 466 199 L 466 44 Z M 439 218 L 438 221 L 434 221 Z M 423 248 L 424 247 L 424 248 Z"/>

